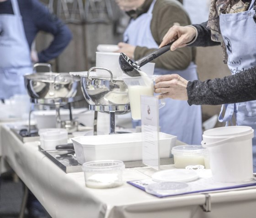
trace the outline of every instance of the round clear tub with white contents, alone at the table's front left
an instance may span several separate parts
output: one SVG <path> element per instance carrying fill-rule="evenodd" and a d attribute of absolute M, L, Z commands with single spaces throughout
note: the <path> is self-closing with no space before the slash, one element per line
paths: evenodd
<path fill-rule="evenodd" d="M 82 169 L 88 188 L 114 188 L 123 184 L 122 161 L 102 160 L 85 162 Z"/>

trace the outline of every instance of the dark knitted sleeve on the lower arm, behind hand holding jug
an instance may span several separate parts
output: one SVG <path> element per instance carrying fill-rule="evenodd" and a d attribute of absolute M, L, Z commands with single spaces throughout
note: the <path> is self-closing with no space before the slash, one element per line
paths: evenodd
<path fill-rule="evenodd" d="M 189 105 L 219 105 L 256 100 L 256 66 L 222 79 L 189 81 Z"/>

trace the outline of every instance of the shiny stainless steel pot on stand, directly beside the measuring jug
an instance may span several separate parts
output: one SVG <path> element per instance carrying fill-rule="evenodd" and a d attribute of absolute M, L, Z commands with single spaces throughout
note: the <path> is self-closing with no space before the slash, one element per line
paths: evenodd
<path fill-rule="evenodd" d="M 108 71 L 110 78 L 91 76 L 91 71 L 96 69 Z M 98 106 L 96 111 L 128 111 L 130 109 L 128 87 L 122 79 L 113 79 L 112 72 L 107 68 L 89 69 L 87 76 L 81 76 L 81 87 L 88 104 Z"/>

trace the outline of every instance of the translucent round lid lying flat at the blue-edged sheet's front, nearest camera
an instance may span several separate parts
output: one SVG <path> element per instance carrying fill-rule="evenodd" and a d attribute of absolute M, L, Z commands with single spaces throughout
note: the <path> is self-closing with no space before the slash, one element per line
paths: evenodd
<path fill-rule="evenodd" d="M 152 183 L 145 187 L 145 191 L 154 195 L 172 195 L 180 194 L 189 191 L 189 185 L 187 183 Z"/>

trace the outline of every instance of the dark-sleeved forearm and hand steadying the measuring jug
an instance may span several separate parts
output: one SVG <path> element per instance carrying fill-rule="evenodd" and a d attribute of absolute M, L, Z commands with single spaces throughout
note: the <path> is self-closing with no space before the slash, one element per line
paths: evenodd
<path fill-rule="evenodd" d="M 224 78 L 187 81 L 178 74 L 159 76 L 155 93 L 161 98 L 187 100 L 189 105 L 220 105 L 256 100 L 256 66 Z"/>

